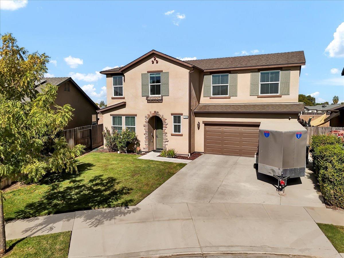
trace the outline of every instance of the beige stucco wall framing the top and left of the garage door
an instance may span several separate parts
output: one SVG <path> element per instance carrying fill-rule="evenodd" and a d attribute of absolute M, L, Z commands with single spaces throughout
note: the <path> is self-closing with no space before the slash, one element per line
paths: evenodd
<path fill-rule="evenodd" d="M 230 122 L 262 122 L 262 121 L 297 121 L 298 114 L 224 114 L 224 113 L 196 113 L 195 114 L 195 151 L 204 152 L 204 124 L 203 121 Z M 200 122 L 200 129 L 197 123 Z"/>

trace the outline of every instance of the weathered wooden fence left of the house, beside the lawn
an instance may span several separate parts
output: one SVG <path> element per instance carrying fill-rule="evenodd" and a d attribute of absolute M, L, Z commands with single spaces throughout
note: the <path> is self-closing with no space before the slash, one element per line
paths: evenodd
<path fill-rule="evenodd" d="M 83 126 L 73 129 L 63 130 L 69 148 L 74 148 L 77 144 L 83 144 L 86 149 L 94 149 L 104 144 L 103 124 L 93 126 Z"/>

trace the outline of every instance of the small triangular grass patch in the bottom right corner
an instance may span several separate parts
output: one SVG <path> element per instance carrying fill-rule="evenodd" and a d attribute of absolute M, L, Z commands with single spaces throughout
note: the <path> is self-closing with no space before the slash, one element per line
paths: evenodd
<path fill-rule="evenodd" d="M 344 252 L 344 227 L 318 223 L 318 226 L 338 252 Z"/>

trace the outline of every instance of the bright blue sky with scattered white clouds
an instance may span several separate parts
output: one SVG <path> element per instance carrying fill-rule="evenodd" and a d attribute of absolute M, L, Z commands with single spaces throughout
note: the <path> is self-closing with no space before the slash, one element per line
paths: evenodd
<path fill-rule="evenodd" d="M 303 50 L 300 94 L 344 101 L 344 1 L 3 1 L 0 33 L 106 100 L 105 67 L 152 49 L 197 59 Z M 335 34 L 334 34 L 335 33 Z"/>

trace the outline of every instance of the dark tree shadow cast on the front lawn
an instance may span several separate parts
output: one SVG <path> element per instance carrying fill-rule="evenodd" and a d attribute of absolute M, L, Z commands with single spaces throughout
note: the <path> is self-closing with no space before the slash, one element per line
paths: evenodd
<path fill-rule="evenodd" d="M 120 186 L 121 182 L 114 177 L 96 175 L 88 181 L 78 178 L 92 166 L 91 163 L 81 163 L 78 165 L 78 174 L 47 176 L 41 184 L 49 184 L 49 189 L 39 200 L 26 204 L 15 212 L 15 217 L 30 218 L 87 209 L 128 206 L 133 202 L 132 199 L 126 198 L 133 189 Z M 69 180 L 69 184 L 62 185 L 66 180 Z"/>

